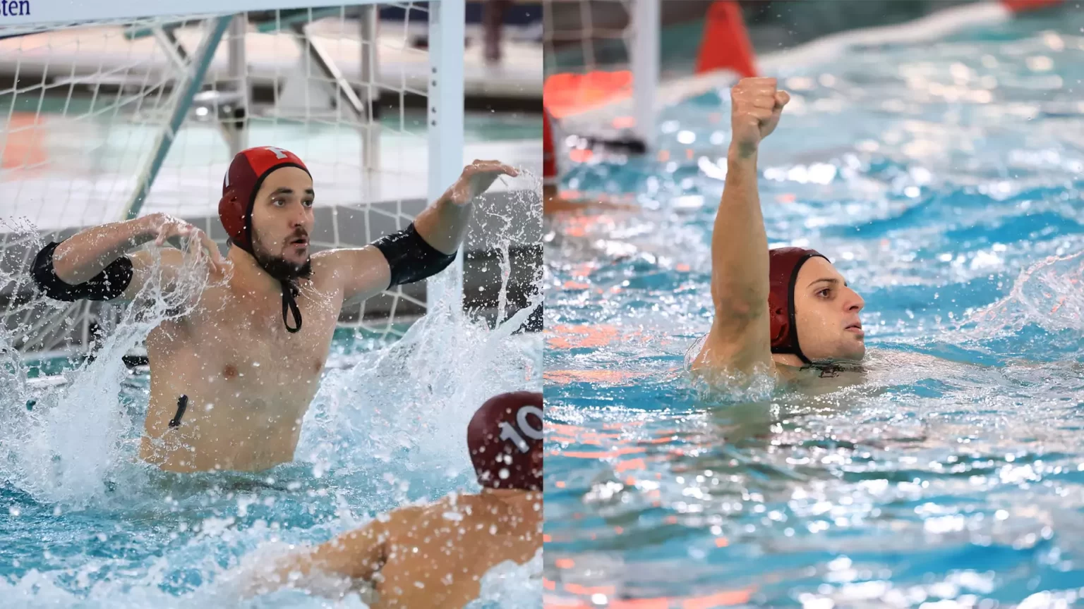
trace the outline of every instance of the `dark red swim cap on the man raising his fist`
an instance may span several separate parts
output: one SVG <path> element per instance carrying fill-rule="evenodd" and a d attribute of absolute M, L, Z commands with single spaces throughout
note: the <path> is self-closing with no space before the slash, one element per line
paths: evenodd
<path fill-rule="evenodd" d="M 828 260 L 815 249 L 777 247 L 767 252 L 767 307 L 771 320 L 772 352 L 793 353 L 805 364 L 812 364 L 798 345 L 798 323 L 795 316 L 795 284 L 802 264 L 813 257 Z M 830 262 L 830 260 L 829 260 Z"/>

